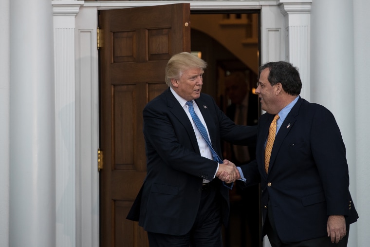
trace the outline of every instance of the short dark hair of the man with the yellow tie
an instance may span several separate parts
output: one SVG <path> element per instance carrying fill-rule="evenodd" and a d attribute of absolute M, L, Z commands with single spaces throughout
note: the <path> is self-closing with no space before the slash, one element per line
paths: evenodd
<path fill-rule="evenodd" d="M 270 74 L 268 80 L 271 85 L 281 83 L 284 91 L 289 95 L 299 95 L 302 89 L 302 81 L 299 72 L 291 63 L 285 61 L 268 62 L 259 67 L 259 75 L 262 70 L 268 68 Z"/>

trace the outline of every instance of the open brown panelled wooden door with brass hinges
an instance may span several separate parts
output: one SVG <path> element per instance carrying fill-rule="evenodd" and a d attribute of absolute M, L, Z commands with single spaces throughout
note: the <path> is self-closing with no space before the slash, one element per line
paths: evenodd
<path fill-rule="evenodd" d="M 126 216 L 146 175 L 144 106 L 162 93 L 168 59 L 190 52 L 190 4 L 100 11 L 100 246 L 145 247 Z"/>

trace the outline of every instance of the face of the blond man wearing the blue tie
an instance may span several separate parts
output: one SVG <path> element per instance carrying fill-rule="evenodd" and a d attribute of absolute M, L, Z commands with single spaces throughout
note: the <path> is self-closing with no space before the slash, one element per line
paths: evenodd
<path fill-rule="evenodd" d="M 180 79 L 171 79 L 175 92 L 187 101 L 197 99 L 201 95 L 203 85 L 203 69 L 185 70 Z"/>

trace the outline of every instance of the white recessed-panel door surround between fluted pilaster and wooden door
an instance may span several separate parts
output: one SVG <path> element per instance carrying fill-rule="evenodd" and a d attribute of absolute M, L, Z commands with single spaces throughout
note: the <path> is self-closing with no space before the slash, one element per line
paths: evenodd
<path fill-rule="evenodd" d="M 76 238 L 78 247 L 99 247 L 98 50 L 96 8 L 76 17 Z"/>

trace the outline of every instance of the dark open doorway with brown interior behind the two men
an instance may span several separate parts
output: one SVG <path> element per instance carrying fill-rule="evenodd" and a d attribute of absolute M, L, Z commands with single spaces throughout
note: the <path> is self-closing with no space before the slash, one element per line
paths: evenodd
<path fill-rule="evenodd" d="M 254 90 L 259 67 L 259 12 L 191 12 L 190 19 L 191 51 L 208 63 L 202 92 L 212 95 L 222 111 L 236 122 L 236 106 L 245 104 L 245 121 L 238 124 L 257 125 L 259 101 Z M 244 84 L 230 80 L 242 80 Z M 245 87 L 246 91 L 232 90 L 235 87 Z M 236 99 L 240 93 L 244 102 Z M 246 148 L 245 152 L 250 153 L 247 159 L 237 157 L 235 147 L 228 143 L 223 148 L 223 157 L 237 165 L 254 158 L 253 147 Z M 262 246 L 259 210 L 258 185 L 246 190 L 234 187 L 230 191 L 230 225 L 223 228 L 224 247 Z"/>

